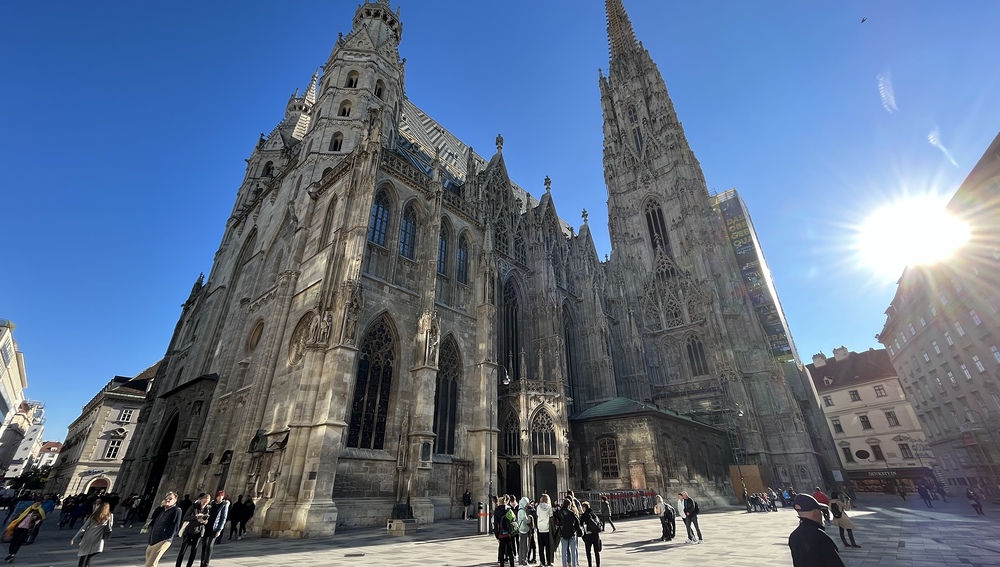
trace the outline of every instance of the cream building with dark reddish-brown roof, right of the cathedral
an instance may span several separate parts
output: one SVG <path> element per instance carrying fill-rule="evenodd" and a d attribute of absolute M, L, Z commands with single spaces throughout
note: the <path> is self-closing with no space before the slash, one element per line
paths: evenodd
<path fill-rule="evenodd" d="M 807 365 L 840 451 L 839 475 L 859 492 L 936 487 L 934 457 L 885 350 L 820 353 Z"/>

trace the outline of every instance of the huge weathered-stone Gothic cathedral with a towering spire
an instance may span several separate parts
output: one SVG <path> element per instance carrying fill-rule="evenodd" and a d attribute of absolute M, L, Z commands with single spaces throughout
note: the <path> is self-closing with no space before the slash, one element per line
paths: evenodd
<path fill-rule="evenodd" d="M 547 179 L 511 181 L 500 136 L 486 159 L 405 97 L 399 12 L 366 0 L 247 160 L 115 489 L 225 488 L 305 537 L 458 517 L 465 489 L 731 495 L 734 459 L 820 479 L 663 79 L 607 10 L 610 258 Z M 660 439 L 580 433 L 638 410 Z"/>

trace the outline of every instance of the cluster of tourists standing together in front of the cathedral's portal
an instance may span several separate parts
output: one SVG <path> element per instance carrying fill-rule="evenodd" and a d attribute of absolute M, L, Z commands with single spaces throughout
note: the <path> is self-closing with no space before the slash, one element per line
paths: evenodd
<path fill-rule="evenodd" d="M 501 495 L 494 498 L 492 514 L 493 535 L 497 539 L 497 561 L 500 567 L 507 562 L 511 567 L 539 562 L 554 565 L 558 544 L 562 567 L 579 567 L 579 541 L 582 539 L 588 567 L 601 566 L 601 532 L 605 525 L 616 528 L 611 522 L 611 505 L 607 496 L 601 496 L 595 510 L 590 502 L 581 502 L 566 492 L 558 506 L 553 506 L 548 494 L 538 501 L 527 497 Z"/>

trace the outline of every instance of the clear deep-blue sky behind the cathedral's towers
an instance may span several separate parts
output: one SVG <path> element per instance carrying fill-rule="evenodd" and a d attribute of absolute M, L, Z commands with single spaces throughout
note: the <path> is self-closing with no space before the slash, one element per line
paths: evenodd
<path fill-rule="evenodd" d="M 0 317 L 47 439 L 163 355 L 244 158 L 357 3 L 3 7 Z M 709 188 L 747 202 L 800 354 L 877 346 L 896 278 L 858 260 L 854 227 L 903 194 L 950 195 L 1000 131 L 1000 3 L 625 7 Z M 487 158 L 502 133 L 511 177 L 539 196 L 551 176 L 560 215 L 586 208 L 608 252 L 604 2 L 404 0 L 402 20 L 410 99 Z M 886 263 L 924 228 L 883 242 Z"/>

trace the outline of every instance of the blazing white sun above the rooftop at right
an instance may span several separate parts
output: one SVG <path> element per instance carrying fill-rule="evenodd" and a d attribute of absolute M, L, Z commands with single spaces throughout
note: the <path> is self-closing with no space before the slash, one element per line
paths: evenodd
<path fill-rule="evenodd" d="M 906 266 L 943 260 L 969 239 L 940 197 L 907 197 L 876 210 L 856 228 L 854 248 L 864 264 L 895 280 Z"/>

